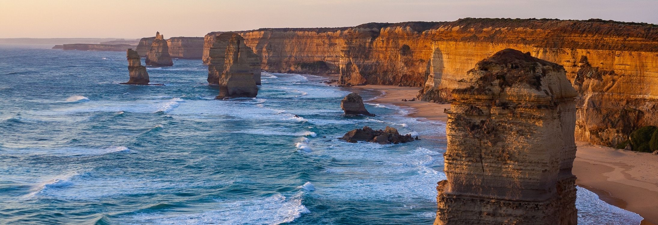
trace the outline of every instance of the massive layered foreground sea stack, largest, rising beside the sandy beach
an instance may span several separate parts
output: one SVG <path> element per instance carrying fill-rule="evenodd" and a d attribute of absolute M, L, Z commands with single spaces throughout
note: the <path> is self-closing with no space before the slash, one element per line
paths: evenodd
<path fill-rule="evenodd" d="M 577 93 L 563 66 L 504 49 L 458 83 L 434 224 L 576 224 Z"/>

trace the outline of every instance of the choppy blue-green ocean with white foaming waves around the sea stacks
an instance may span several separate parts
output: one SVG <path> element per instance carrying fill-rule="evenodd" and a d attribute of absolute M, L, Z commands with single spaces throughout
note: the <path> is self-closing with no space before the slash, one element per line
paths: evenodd
<path fill-rule="evenodd" d="M 0 224 L 432 224 L 445 124 L 367 104 L 307 74 L 263 72 L 258 97 L 215 100 L 201 60 L 0 45 Z M 295 116 L 297 115 L 297 116 Z M 421 140 L 346 143 L 355 128 Z M 642 217 L 578 187 L 579 224 Z"/>

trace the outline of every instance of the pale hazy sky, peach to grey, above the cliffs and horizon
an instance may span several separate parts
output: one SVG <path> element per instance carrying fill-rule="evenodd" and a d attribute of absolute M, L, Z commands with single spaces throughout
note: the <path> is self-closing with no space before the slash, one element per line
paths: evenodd
<path fill-rule="evenodd" d="M 2 37 L 165 37 L 465 17 L 658 24 L 658 0 L 0 0 Z"/>

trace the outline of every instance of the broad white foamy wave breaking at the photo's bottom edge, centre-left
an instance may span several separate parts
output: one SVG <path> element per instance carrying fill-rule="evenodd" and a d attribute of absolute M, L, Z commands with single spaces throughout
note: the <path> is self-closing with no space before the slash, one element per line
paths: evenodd
<path fill-rule="evenodd" d="M 193 214 L 136 214 L 126 218 L 136 224 L 284 224 L 311 213 L 302 204 L 301 193 L 292 197 L 276 194 L 263 199 L 227 202 L 218 199 L 216 211 Z"/>

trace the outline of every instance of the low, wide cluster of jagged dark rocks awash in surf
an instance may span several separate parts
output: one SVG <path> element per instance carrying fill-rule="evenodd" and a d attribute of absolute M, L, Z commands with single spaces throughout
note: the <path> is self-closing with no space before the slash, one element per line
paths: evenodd
<path fill-rule="evenodd" d="M 407 143 L 414 140 L 414 138 L 411 137 L 411 134 L 400 135 L 397 132 L 397 129 L 390 126 L 386 126 L 386 129 L 384 130 L 372 130 L 372 128 L 364 126 L 362 129 L 351 130 L 350 132 L 347 132 L 345 136 L 339 137 L 338 139 L 343 139 L 349 143 L 368 141 L 380 143 L 382 145 Z M 418 137 L 416 137 L 416 139 L 418 139 Z"/>

